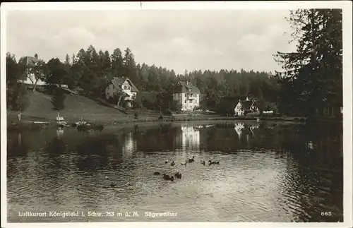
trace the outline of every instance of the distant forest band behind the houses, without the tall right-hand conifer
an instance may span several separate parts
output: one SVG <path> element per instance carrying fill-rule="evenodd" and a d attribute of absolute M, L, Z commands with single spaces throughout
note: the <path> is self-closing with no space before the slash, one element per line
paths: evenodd
<path fill-rule="evenodd" d="M 24 57 L 21 57 L 17 62 L 15 56 L 8 53 L 6 62 L 8 66 L 11 65 L 8 67 L 8 88 L 18 90 L 17 86 L 20 85 L 16 81 L 26 73 L 23 59 Z M 222 105 L 224 97 L 250 95 L 275 102 L 278 90 L 278 78 L 270 73 L 220 70 L 185 71 L 184 74 L 177 74 L 174 70 L 155 65 L 136 64 L 133 53 L 128 48 L 124 52 L 116 48 L 112 54 L 109 54 L 107 50 L 97 52 L 95 47 L 90 45 L 87 49 L 80 49 L 71 57 L 66 54 L 64 62 L 58 58 L 50 59 L 47 63 L 39 59 L 35 68 L 30 69 L 35 79 L 40 78 L 49 84 L 66 84 L 68 88 L 78 87 L 85 92 L 85 95 L 100 98 L 104 98 L 105 88 L 113 77 L 127 77 L 140 90 L 133 107 L 145 107 L 160 112 L 176 111 L 181 108 L 181 104 L 176 104 L 172 97 L 174 88 L 180 81 L 189 81 L 198 87 L 202 97 L 201 109 L 207 108 L 219 112 L 227 108 L 229 114 L 236 105 L 234 102 L 238 100 L 227 101 L 229 104 Z M 60 90 L 54 91 L 53 95 L 56 93 L 58 97 L 63 97 Z M 13 96 L 8 94 L 8 99 L 13 97 L 14 101 L 16 96 L 16 94 Z M 120 101 L 121 97 L 116 97 L 116 100 Z M 12 103 L 8 102 L 9 105 Z M 58 106 L 62 108 L 62 104 Z"/>

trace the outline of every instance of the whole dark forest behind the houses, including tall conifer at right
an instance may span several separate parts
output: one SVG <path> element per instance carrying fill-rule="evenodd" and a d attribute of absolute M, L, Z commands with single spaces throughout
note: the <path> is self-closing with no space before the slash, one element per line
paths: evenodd
<path fill-rule="evenodd" d="M 30 71 L 47 83 L 79 87 L 87 96 L 102 98 L 109 80 L 128 77 L 140 90 L 133 106 L 136 109 L 145 107 L 162 112 L 177 109 L 172 93 L 179 81 L 186 80 L 201 91 L 200 108 L 220 114 L 232 114 L 237 97 L 244 95 L 256 98 L 261 112 L 273 109 L 282 114 L 310 116 L 328 106 L 339 109 L 342 107 L 342 11 L 297 10 L 291 11 L 287 20 L 294 28 L 292 37 L 298 44 L 297 52 L 274 55 L 284 68 L 281 73 L 222 69 L 176 74 L 160 66 L 136 64 L 129 48 L 124 52 L 116 48 L 109 53 L 97 51 L 92 45 L 72 56 L 66 54 L 65 61 L 53 58 L 45 62 L 38 58 L 37 66 Z M 23 109 L 28 103 L 27 91 L 17 83 L 29 70 L 23 58 L 16 61 L 12 54 L 6 56 L 8 108 Z M 59 91 L 53 93 L 64 97 Z M 64 108 L 61 104 L 56 106 Z"/>

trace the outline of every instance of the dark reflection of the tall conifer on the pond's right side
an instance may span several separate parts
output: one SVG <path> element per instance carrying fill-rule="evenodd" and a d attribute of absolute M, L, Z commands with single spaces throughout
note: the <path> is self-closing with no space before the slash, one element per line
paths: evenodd
<path fill-rule="evenodd" d="M 282 127 L 282 148 L 289 152 L 300 181 L 292 181 L 287 194 L 299 191 L 302 195 L 299 221 L 342 221 L 343 160 L 342 124 L 309 123 Z M 330 217 L 321 211 L 331 211 Z"/>

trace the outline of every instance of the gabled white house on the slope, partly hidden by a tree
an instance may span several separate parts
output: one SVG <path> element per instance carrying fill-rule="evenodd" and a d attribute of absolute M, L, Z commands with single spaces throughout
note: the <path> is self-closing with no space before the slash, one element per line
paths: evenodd
<path fill-rule="evenodd" d="M 120 92 L 126 94 L 125 101 L 128 107 L 132 106 L 132 101 L 136 98 L 138 89 L 128 78 L 113 78 L 105 88 L 105 96 L 107 99 L 115 97 Z"/>

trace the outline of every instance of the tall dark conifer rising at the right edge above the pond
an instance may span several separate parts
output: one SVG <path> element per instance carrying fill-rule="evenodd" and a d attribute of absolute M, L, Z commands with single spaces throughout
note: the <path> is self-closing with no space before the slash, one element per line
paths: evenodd
<path fill-rule="evenodd" d="M 277 52 L 285 69 L 282 102 L 306 116 L 327 106 L 342 105 L 342 11 L 339 9 L 299 9 L 289 18 L 297 51 Z M 293 99 L 294 98 L 294 99 Z"/>

